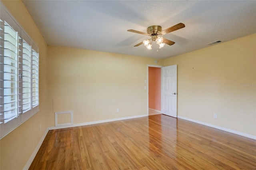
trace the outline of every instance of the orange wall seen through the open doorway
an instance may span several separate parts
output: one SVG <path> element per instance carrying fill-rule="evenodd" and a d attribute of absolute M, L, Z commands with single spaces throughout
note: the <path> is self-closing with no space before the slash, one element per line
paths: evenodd
<path fill-rule="evenodd" d="M 161 111 L 161 68 L 148 67 L 148 107 Z"/>

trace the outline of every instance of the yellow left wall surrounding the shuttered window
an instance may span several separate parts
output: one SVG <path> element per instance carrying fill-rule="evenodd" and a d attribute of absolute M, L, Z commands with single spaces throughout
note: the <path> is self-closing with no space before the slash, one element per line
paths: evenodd
<path fill-rule="evenodd" d="M 0 169 L 23 169 L 46 129 L 53 126 L 48 121 L 46 106 L 46 54 L 47 44 L 34 24 L 22 1 L 2 1 L 16 21 L 39 47 L 40 55 L 40 112 L 0 140 Z M 40 130 L 39 125 L 42 125 Z"/>

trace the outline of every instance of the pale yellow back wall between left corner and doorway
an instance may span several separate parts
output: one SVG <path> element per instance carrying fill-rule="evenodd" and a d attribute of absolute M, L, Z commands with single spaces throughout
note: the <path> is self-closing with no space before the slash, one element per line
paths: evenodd
<path fill-rule="evenodd" d="M 74 124 L 145 115 L 144 81 L 147 64 L 154 64 L 154 60 L 49 46 L 48 107 L 52 112 L 72 110 Z"/>

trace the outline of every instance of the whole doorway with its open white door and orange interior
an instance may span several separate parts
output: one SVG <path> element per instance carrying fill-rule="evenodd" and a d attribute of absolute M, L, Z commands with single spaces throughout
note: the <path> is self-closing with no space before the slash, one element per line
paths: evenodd
<path fill-rule="evenodd" d="M 147 65 L 147 80 L 147 115 L 177 117 L 177 65 Z"/>

